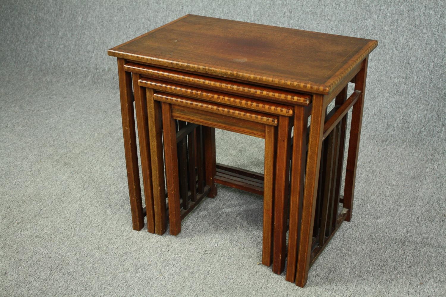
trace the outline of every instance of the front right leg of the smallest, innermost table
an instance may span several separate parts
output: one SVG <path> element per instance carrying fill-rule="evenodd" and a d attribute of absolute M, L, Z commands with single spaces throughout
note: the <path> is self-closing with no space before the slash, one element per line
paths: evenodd
<path fill-rule="evenodd" d="M 276 127 L 265 126 L 262 264 L 271 265 L 273 248 L 273 196 L 276 157 Z"/>

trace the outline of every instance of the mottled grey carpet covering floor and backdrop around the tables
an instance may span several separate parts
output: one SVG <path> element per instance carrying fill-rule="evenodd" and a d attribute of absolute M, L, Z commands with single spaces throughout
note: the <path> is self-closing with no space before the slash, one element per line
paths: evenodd
<path fill-rule="evenodd" d="M 446 295 L 444 1 L 135 2 L 1 1 L 0 295 Z M 379 41 L 353 220 L 304 289 L 257 264 L 260 196 L 219 187 L 180 235 L 132 231 L 107 49 L 187 13 Z M 262 145 L 218 131 L 218 160 L 261 171 Z"/>

